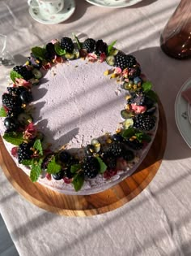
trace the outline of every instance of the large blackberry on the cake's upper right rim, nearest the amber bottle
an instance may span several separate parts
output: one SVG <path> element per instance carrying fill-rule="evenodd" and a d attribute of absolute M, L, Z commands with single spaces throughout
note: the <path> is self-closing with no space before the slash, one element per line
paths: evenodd
<path fill-rule="evenodd" d="M 121 67 L 121 69 L 125 69 L 126 67 L 134 67 L 134 65 L 137 63 L 136 59 L 133 55 L 125 55 L 125 54 L 117 54 L 116 55 L 116 61 L 115 66 Z"/>

